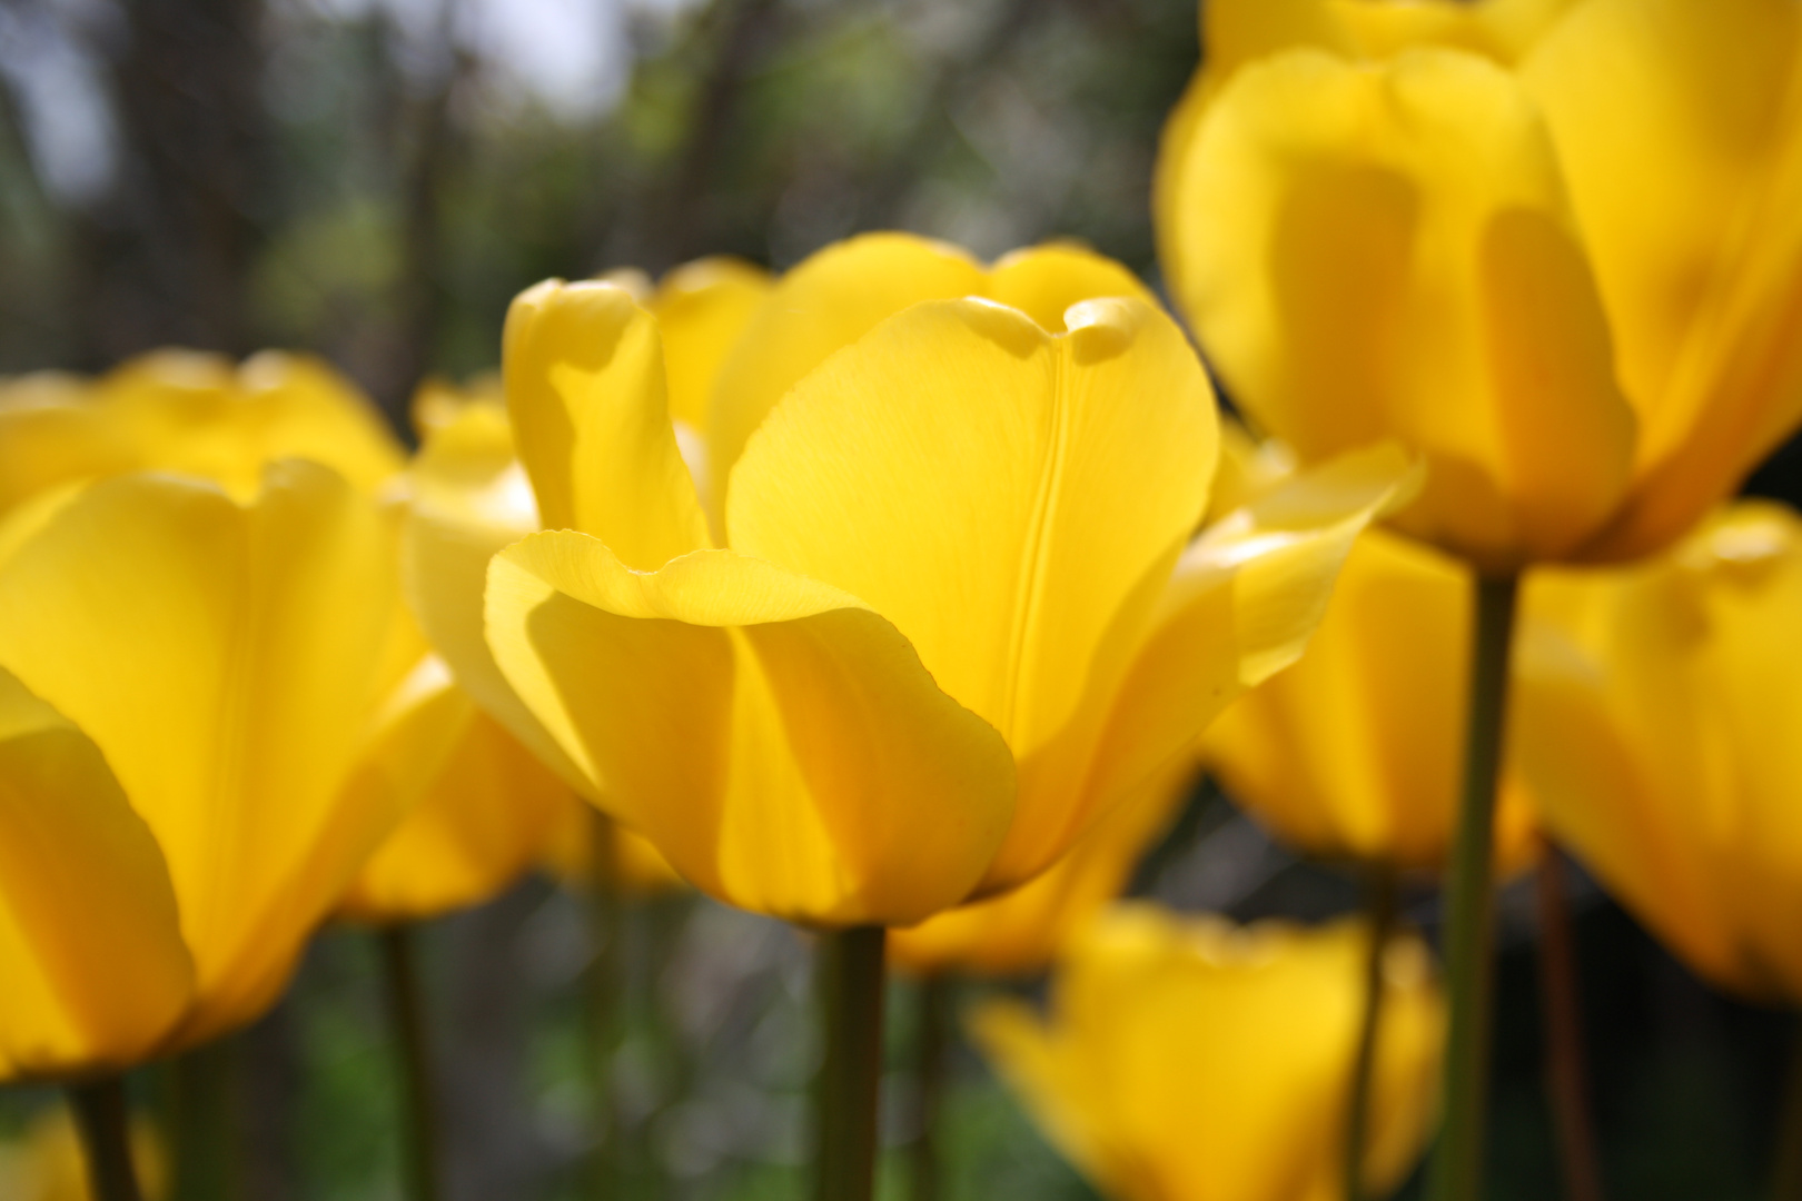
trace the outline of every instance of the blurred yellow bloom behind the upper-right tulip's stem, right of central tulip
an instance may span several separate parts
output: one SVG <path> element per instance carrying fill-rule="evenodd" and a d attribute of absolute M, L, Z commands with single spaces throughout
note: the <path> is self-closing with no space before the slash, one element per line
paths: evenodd
<path fill-rule="evenodd" d="M 1366 531 L 1308 654 L 1202 735 L 1227 794 L 1288 846 L 1324 859 L 1440 868 L 1451 852 L 1470 704 L 1470 569 Z M 1532 805 L 1505 778 L 1503 866 L 1532 853 Z"/>

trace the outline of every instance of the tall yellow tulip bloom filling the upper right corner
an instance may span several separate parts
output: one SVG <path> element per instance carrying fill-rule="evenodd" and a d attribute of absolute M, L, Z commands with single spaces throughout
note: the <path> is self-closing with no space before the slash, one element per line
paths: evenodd
<path fill-rule="evenodd" d="M 1793 0 L 1220 0 L 1162 259 L 1305 463 L 1483 571 L 1679 537 L 1802 416 Z"/>

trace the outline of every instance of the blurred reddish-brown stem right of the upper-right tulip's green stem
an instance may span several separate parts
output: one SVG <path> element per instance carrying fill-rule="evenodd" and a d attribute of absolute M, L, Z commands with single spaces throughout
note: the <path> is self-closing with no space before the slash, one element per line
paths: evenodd
<path fill-rule="evenodd" d="M 1539 998 L 1546 1021 L 1546 1091 L 1559 1134 L 1566 1201 L 1602 1201 L 1602 1167 L 1589 1120 L 1589 1084 L 1582 1053 L 1577 947 L 1571 942 L 1564 859 L 1550 839 L 1539 843 Z"/>

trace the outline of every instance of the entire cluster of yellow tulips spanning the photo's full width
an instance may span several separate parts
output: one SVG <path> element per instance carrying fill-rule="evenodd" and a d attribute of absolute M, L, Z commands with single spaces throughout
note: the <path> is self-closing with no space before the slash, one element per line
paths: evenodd
<path fill-rule="evenodd" d="M 1081 247 L 867 234 L 539 284 L 411 459 L 297 357 L 4 385 L 0 1079 L 68 1084 L 99 1196 L 121 1073 L 323 922 L 550 862 L 807 933 L 831 1201 L 888 965 L 1049 967 L 966 1025 L 1124 1201 L 1373 1197 L 1434 1131 L 1476 1197 L 1494 879 L 1550 844 L 1802 1003 L 1802 519 L 1728 502 L 1802 421 L 1802 4 L 1202 23 L 1188 333 Z M 1115 902 L 1202 769 L 1371 915 Z"/>

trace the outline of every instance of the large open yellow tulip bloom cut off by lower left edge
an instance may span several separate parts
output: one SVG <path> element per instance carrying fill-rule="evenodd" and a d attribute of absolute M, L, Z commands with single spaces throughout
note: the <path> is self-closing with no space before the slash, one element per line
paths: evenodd
<path fill-rule="evenodd" d="M 23 931 L 11 974 L 45 981 L 7 992 L 9 1075 L 121 1066 L 249 1021 L 400 816 L 348 787 L 380 684 L 395 587 L 387 529 L 326 468 L 287 463 L 265 479 L 247 506 L 175 477 L 103 481 L 0 567 L 13 708 L 54 735 L 14 740 L 14 787 L 68 787 L 41 756 L 74 756 L 74 790 L 114 814 L 97 810 L 50 844 L 40 834 L 40 846 L 81 857 L 99 841 L 115 861 L 130 855 L 128 879 L 142 888 L 130 902 L 114 893 L 115 906 L 133 922 L 159 911 L 166 922 L 173 909 L 180 929 L 175 947 L 94 938 L 112 933 L 94 924 L 105 909 L 79 918 L 88 906 L 34 889 L 36 870 L 9 870 Z M 41 823 L 41 794 L 11 794 L 20 821 Z M 128 879 L 108 879 L 108 891 Z M 146 981 L 173 990 L 184 958 L 193 972 L 155 1034 L 139 1023 L 166 1005 L 153 1001 L 162 985 L 126 1003 L 110 983 L 119 954 L 153 951 L 166 965 Z M 58 980 L 68 983 L 50 987 Z M 108 1007 L 133 1010 L 132 1037 L 85 1017 Z"/>

